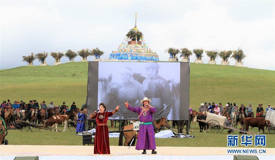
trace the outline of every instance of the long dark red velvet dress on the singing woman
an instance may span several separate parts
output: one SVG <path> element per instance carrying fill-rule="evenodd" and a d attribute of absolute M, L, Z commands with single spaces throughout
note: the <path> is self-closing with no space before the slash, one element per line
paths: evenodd
<path fill-rule="evenodd" d="M 94 117 L 92 117 L 92 119 L 96 118 L 97 121 L 96 134 L 94 138 L 94 154 L 110 154 L 109 129 L 107 126 L 107 121 L 112 115 L 112 112 L 98 112 Z"/>

